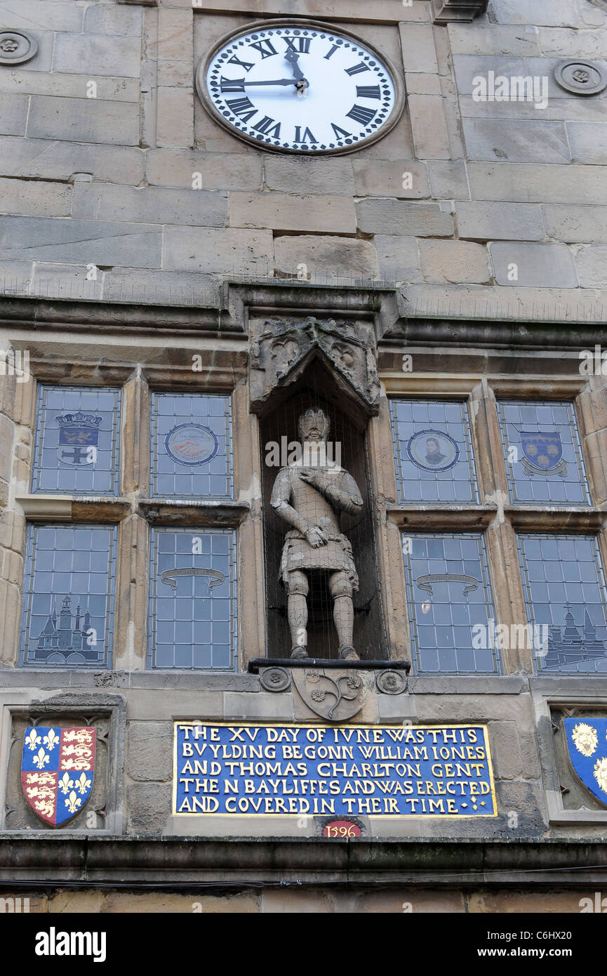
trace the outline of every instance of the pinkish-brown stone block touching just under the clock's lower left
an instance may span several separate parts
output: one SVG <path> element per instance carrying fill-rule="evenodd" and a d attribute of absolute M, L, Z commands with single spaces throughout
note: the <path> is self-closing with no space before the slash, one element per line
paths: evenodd
<path fill-rule="evenodd" d="M 148 149 L 145 153 L 147 183 L 191 189 L 194 174 L 200 174 L 196 180 L 201 189 L 261 189 L 262 159 L 253 153 L 191 149 Z"/>

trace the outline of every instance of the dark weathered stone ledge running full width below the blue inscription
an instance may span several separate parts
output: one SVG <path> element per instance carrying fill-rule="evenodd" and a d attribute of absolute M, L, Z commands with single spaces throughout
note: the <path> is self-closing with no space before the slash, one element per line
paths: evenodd
<path fill-rule="evenodd" d="M 496 883 L 549 889 L 599 884 L 607 847 L 603 839 L 488 840 L 463 837 L 403 840 L 326 840 L 281 837 L 147 838 L 75 837 L 5 832 L 0 837 L 0 881 L 48 882 L 61 887 L 86 880 L 182 885 L 255 880 L 303 884 L 364 881 L 441 886 Z M 592 889 L 594 890 L 594 889 Z"/>

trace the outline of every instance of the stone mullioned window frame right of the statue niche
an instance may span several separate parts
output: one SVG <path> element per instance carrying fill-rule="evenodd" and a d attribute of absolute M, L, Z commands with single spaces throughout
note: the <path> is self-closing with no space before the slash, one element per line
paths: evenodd
<path fill-rule="evenodd" d="M 395 354 L 400 358 L 402 353 Z M 386 357 L 389 362 L 389 357 Z M 453 365 L 451 366 L 451 363 Z M 451 370 L 450 370 L 451 366 Z M 430 372 L 404 374 L 381 369 L 384 408 L 375 424 L 376 454 L 381 459 L 379 444 L 392 444 L 391 411 L 388 400 L 459 399 L 467 402 L 471 424 L 472 446 L 476 460 L 480 505 L 444 505 L 424 507 L 398 503 L 396 470 L 393 452 L 389 460 L 381 459 L 380 484 L 386 498 L 382 541 L 385 563 L 392 574 L 385 599 L 386 622 L 390 646 L 399 648 L 392 656 L 411 660 L 408 632 L 408 604 L 402 559 L 402 535 L 407 531 L 453 532 L 479 531 L 485 536 L 489 573 L 496 607 L 496 625 L 527 622 L 523 597 L 521 570 L 518 560 L 516 533 L 521 531 L 579 532 L 595 535 L 598 540 L 603 569 L 607 571 L 607 524 L 601 505 L 607 497 L 605 471 L 600 462 L 598 443 L 601 440 L 600 413 L 604 413 L 604 392 L 586 378 L 557 377 L 550 374 L 549 396 L 543 392 L 540 369 L 535 377 L 512 378 L 493 371 L 456 374 L 460 368 L 452 354 L 441 359 L 439 375 Z M 546 372 L 547 369 L 546 367 Z M 451 375 L 449 373 L 451 372 Z M 590 505 L 563 506 L 559 510 L 546 506 L 512 505 L 506 481 L 506 465 L 499 427 L 497 399 L 567 400 L 573 403 L 582 453 L 587 471 Z M 402 570 L 401 570 L 401 567 Z M 512 571 L 514 567 L 514 571 Z M 400 626 L 398 626 L 400 624 Z M 397 628 L 400 633 L 397 633 Z M 536 677 L 536 665 L 530 648 L 509 648 L 502 651 L 502 674 L 526 673 Z M 421 673 L 421 680 L 436 678 L 435 673 Z M 560 672 L 563 680 L 569 676 Z M 593 675 L 588 675 L 591 680 Z M 451 678 L 453 679 L 453 678 Z M 499 677 L 496 680 L 500 680 Z"/>

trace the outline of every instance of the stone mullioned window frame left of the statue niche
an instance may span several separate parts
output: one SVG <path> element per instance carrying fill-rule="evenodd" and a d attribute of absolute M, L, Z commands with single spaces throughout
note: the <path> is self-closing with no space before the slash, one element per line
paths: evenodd
<path fill-rule="evenodd" d="M 206 344 L 205 344 L 206 346 Z M 192 350 L 193 354 L 193 350 Z M 144 357 L 142 356 L 142 359 Z M 162 368 L 151 366 L 145 362 L 135 365 L 120 363 L 113 366 L 104 375 L 91 377 L 92 371 L 87 370 L 87 353 L 61 360 L 61 372 L 57 364 L 51 365 L 42 357 L 34 356 L 30 360 L 31 382 L 21 387 L 21 413 L 29 418 L 28 426 L 32 439 L 35 437 L 35 403 L 38 385 L 54 384 L 69 386 L 119 386 L 121 389 L 121 419 L 120 419 L 120 476 L 119 494 L 116 496 L 70 496 L 54 494 L 32 494 L 30 487 L 27 493 L 18 495 L 16 502 L 22 509 L 27 522 L 54 522 L 65 524 L 109 524 L 118 528 L 116 582 L 114 597 L 114 631 L 112 659 L 107 663 L 107 671 L 149 671 L 147 667 L 147 601 L 149 589 L 149 528 L 158 527 L 189 527 L 197 528 L 231 528 L 236 533 L 237 580 L 238 591 L 238 620 L 237 620 L 237 654 L 235 655 L 236 671 L 245 671 L 246 662 L 243 660 L 243 634 L 250 634 L 247 643 L 249 657 L 262 656 L 262 633 L 257 620 L 257 606 L 263 605 L 263 581 L 254 580 L 249 589 L 258 590 L 256 596 L 248 601 L 243 598 L 241 588 L 245 586 L 243 580 L 254 572 L 254 561 L 247 559 L 245 548 L 241 544 L 241 533 L 256 534 L 253 523 L 251 506 L 246 500 L 246 491 L 251 481 L 252 440 L 257 442 L 256 435 L 249 435 L 248 444 L 245 442 L 245 430 L 242 423 L 243 410 L 246 410 L 246 392 L 238 368 L 231 374 L 218 369 L 214 363 L 213 349 L 208 346 L 202 352 L 202 369 L 194 372 L 189 362 L 183 366 L 174 367 L 172 364 Z M 181 357 L 180 357 L 181 361 Z M 220 375 L 218 375 L 220 374 Z M 232 408 L 232 472 L 234 497 L 231 500 L 220 501 L 198 499 L 170 499 L 152 498 L 149 495 L 149 401 L 151 389 L 159 392 L 201 392 L 218 393 L 230 397 Z M 240 419 L 237 424 L 236 418 Z M 256 419 L 257 423 L 257 419 Z M 31 465 L 31 453 L 30 453 Z M 30 468 L 30 465 L 28 466 Z M 30 478 L 31 470 L 28 471 Z M 30 485 L 30 480 L 27 481 Z M 245 498 L 243 499 L 243 496 Z M 247 524 L 243 524 L 247 523 Z M 23 532 L 22 555 L 24 555 L 25 532 Z M 255 550 L 260 550 L 260 543 L 255 544 Z M 20 580 L 24 578 L 24 570 Z M 22 586 L 20 587 L 20 606 L 22 605 Z M 241 613 L 242 608 L 242 613 Z M 13 648 L 9 666 L 20 671 L 19 668 L 19 627 L 18 622 L 13 634 L 7 634 L 7 644 Z M 53 672 L 59 666 L 28 671 Z M 62 671 L 63 669 L 61 669 Z M 81 669 L 82 670 L 82 669 Z M 96 669 L 93 669 L 95 671 Z M 102 670 L 97 669 L 97 670 Z M 78 671 L 77 666 L 65 671 Z M 92 671 L 92 669 L 87 669 Z M 173 673 L 175 669 L 158 671 Z M 183 673 L 183 671 L 180 671 Z M 195 670 L 185 673 L 217 673 L 215 671 Z"/>

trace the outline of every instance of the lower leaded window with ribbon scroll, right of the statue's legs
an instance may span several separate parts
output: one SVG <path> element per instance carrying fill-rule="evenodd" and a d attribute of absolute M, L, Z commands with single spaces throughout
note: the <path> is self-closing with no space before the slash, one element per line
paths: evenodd
<path fill-rule="evenodd" d="M 483 536 L 406 535 L 403 553 L 415 671 L 499 671 Z"/>

